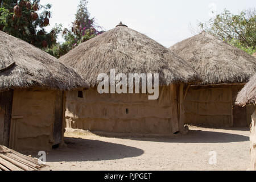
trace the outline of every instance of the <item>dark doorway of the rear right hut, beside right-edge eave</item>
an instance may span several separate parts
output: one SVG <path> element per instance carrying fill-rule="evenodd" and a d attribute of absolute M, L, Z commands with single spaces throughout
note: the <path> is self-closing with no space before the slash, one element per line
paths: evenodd
<path fill-rule="evenodd" d="M 246 107 L 233 106 L 234 127 L 246 127 Z"/>

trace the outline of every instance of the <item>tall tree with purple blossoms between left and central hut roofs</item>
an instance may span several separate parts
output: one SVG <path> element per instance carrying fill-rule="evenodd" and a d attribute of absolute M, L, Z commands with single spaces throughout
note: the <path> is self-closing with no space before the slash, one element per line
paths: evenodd
<path fill-rule="evenodd" d="M 72 22 L 72 26 L 69 27 L 69 29 L 64 28 L 62 31 L 64 42 L 55 44 L 51 48 L 48 48 L 46 52 L 59 58 L 80 43 L 92 39 L 103 32 L 97 30 L 97 28 L 100 29 L 101 27 L 96 26 L 94 18 L 90 18 L 90 14 L 87 10 L 87 3 L 87 0 L 80 1 L 75 21 Z"/>

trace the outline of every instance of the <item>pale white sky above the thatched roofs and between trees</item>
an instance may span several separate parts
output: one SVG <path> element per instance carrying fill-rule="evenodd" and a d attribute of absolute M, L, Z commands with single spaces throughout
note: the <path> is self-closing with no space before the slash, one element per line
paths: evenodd
<path fill-rule="evenodd" d="M 47 30 L 55 23 L 70 27 L 79 2 L 41 0 L 42 4 L 52 5 L 52 18 Z M 255 0 L 88 0 L 90 17 L 94 17 L 103 30 L 108 31 L 122 21 L 167 48 L 193 36 L 191 30 L 196 28 L 197 22 L 205 22 L 224 9 L 237 14 L 255 8 Z M 59 41 L 62 40 L 59 37 Z"/>

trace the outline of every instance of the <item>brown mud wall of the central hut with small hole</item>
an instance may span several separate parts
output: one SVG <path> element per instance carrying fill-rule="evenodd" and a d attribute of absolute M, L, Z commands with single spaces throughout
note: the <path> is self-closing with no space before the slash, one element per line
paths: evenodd
<path fill-rule="evenodd" d="M 109 133 L 171 134 L 177 122 L 174 85 L 159 88 L 158 100 L 148 94 L 98 94 L 97 88 L 66 93 L 67 127 Z M 176 87 L 175 87 L 176 88 Z M 81 96 L 81 94 L 80 94 Z M 171 101 L 172 100 L 172 101 Z M 175 113 L 174 113 L 175 112 Z"/>

